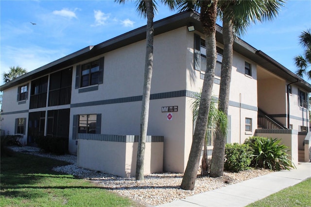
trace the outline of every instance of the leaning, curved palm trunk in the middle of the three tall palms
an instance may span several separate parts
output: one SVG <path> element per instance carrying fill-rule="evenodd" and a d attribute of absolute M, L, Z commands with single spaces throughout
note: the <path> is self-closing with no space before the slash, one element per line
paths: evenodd
<path fill-rule="evenodd" d="M 203 81 L 201 102 L 199 107 L 198 118 L 192 138 L 190 155 L 186 171 L 181 183 L 184 190 L 193 190 L 195 179 L 198 173 L 199 161 L 205 140 L 207 129 L 207 118 L 212 96 L 215 65 L 216 65 L 216 17 L 217 17 L 217 0 L 201 1 L 200 21 L 203 26 L 207 50 L 207 69 Z"/>

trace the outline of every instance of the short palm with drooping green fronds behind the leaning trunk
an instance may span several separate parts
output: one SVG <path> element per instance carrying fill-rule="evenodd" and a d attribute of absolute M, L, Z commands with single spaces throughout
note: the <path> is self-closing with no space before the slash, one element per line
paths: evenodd
<path fill-rule="evenodd" d="M 195 100 L 192 103 L 192 115 L 193 115 L 193 125 L 197 120 L 199 106 L 201 101 L 201 93 L 195 94 Z M 220 127 L 217 128 L 219 123 Z M 202 167 L 201 175 L 208 175 L 208 158 L 207 158 L 207 145 L 208 142 L 215 136 L 215 132 L 219 130 L 221 133 L 225 134 L 227 131 L 228 120 L 227 116 L 219 110 L 216 106 L 215 101 L 211 101 L 209 105 L 209 113 L 207 119 L 207 131 L 205 136 L 205 142 L 203 147 L 203 157 L 202 157 Z"/>

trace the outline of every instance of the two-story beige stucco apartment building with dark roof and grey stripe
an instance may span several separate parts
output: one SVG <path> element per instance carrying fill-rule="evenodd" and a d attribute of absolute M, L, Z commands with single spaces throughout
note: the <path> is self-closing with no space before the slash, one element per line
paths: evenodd
<path fill-rule="evenodd" d="M 188 31 L 190 25 L 194 31 Z M 146 173 L 183 173 L 193 134 L 191 104 L 202 88 L 208 54 L 196 13 L 164 18 L 154 28 L 147 134 L 161 136 L 150 138 L 161 144 L 148 148 L 151 154 L 145 162 L 149 167 L 160 164 Z M 140 27 L 1 86 L 1 129 L 23 135 L 25 145 L 35 143 L 38 135 L 68 137 L 69 152 L 78 155 L 81 167 L 121 176 L 135 174 L 137 146 L 128 143 L 135 143 L 130 135 L 137 136 L 140 130 L 145 33 L 146 27 Z M 214 96 L 219 92 L 223 51 L 220 26 L 216 39 Z M 227 142 L 243 143 L 245 138 L 271 135 L 278 129 L 277 135 L 286 135 L 297 154 L 303 148 L 298 142 L 309 129 L 311 85 L 241 39 L 234 42 L 232 67 Z M 298 132 L 305 133 L 300 133 L 304 137 L 299 140 Z M 292 154 L 294 161 L 297 156 Z"/>

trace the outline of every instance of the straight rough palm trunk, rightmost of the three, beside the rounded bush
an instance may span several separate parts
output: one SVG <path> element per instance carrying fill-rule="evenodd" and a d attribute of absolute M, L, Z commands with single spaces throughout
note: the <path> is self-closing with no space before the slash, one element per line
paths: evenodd
<path fill-rule="evenodd" d="M 228 115 L 229 93 L 233 56 L 233 24 L 231 19 L 223 19 L 224 53 L 221 69 L 218 109 Z M 218 126 L 219 128 L 219 126 Z M 210 176 L 219 177 L 224 174 L 226 136 L 221 130 L 216 131 L 214 149 L 210 165 Z"/>

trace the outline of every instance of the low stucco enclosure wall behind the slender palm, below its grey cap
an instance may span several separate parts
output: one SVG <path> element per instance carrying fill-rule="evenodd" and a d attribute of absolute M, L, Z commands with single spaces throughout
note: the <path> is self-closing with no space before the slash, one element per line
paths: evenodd
<path fill-rule="evenodd" d="M 135 176 L 137 142 L 78 140 L 77 166 L 121 177 Z M 144 174 L 163 171 L 163 142 L 146 142 Z"/>

